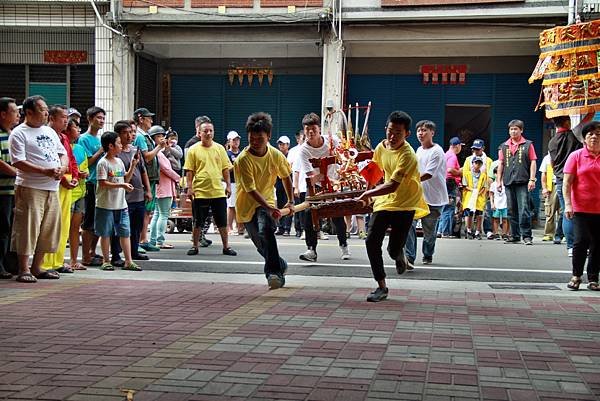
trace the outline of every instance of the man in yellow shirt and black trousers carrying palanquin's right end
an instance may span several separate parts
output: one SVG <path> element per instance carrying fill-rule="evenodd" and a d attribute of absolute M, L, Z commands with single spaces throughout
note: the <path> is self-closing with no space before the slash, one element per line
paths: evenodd
<path fill-rule="evenodd" d="M 369 221 L 366 245 L 373 277 L 379 287 L 367 296 L 369 302 L 382 301 L 388 295 L 381 251 L 387 229 L 391 227 L 388 253 L 396 261 L 396 271 L 402 274 L 409 267 L 403 249 L 412 222 L 429 214 L 423 198 L 417 156 L 406 142 L 411 124 L 412 119 L 403 111 L 394 111 L 389 115 L 386 139 L 377 145 L 373 154 L 373 162 L 385 173 L 385 182 L 365 191 L 358 198 L 369 204 L 371 197 L 377 197 Z"/>

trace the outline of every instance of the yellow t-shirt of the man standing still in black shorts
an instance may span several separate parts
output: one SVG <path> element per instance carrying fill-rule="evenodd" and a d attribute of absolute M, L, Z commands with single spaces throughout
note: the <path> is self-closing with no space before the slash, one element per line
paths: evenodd
<path fill-rule="evenodd" d="M 183 169 L 194 174 L 194 197 L 213 199 L 225 197 L 225 189 L 221 184 L 223 170 L 229 170 L 231 167 L 223 145 L 213 142 L 207 148 L 198 142 L 188 149 Z"/>

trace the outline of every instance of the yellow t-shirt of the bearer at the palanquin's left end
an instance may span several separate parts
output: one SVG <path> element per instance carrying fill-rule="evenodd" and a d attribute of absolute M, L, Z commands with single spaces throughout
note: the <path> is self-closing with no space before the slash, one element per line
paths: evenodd
<path fill-rule="evenodd" d="M 268 145 L 267 153 L 262 157 L 254 156 L 248 148 L 244 149 L 235 159 L 233 171 L 237 188 L 235 213 L 240 223 L 252 220 L 254 210 L 259 206 L 248 192 L 257 191 L 269 205 L 275 206 L 273 188 L 277 177 L 289 177 L 292 173 L 283 153 L 271 145 Z"/>

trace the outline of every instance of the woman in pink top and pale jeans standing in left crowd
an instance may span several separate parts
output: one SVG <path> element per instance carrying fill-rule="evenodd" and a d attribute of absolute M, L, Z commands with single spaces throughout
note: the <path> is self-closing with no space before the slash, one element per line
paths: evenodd
<path fill-rule="evenodd" d="M 152 132 L 152 139 L 156 143 L 160 143 L 165 137 L 165 131 L 160 130 Z M 157 153 L 158 166 L 160 169 L 160 177 L 156 186 L 156 209 L 150 222 L 150 244 L 158 246 L 162 249 L 172 249 L 173 245 L 165 244 L 165 229 L 167 228 L 167 220 L 171 213 L 171 205 L 173 197 L 176 195 L 175 183 L 181 177 L 171 167 L 171 162 L 161 150 Z"/>

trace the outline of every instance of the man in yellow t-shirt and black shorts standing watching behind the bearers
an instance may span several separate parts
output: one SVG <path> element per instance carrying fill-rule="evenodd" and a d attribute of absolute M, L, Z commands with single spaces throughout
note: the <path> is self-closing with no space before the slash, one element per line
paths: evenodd
<path fill-rule="evenodd" d="M 193 245 L 187 254 L 198 254 L 200 230 L 210 208 L 223 242 L 223 255 L 235 256 L 237 253 L 229 246 L 227 236 L 226 199 L 231 194 L 229 170 L 232 165 L 223 145 L 213 141 L 214 132 L 212 122 L 202 124 L 200 141 L 188 149 L 183 166 L 187 183 L 184 191 L 190 197 L 196 212 L 192 232 Z M 225 181 L 225 188 L 221 181 Z"/>

